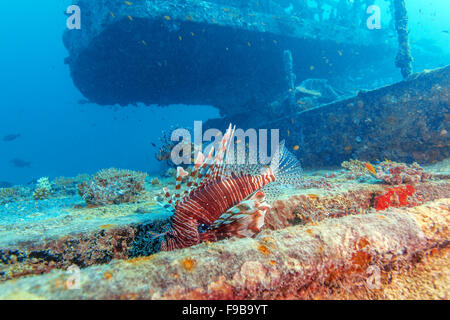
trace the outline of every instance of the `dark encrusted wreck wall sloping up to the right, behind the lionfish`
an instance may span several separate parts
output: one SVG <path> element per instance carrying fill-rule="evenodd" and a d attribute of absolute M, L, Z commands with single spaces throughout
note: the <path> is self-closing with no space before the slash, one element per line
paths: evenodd
<path fill-rule="evenodd" d="M 339 166 L 348 159 L 431 163 L 450 156 L 450 66 L 413 75 L 377 90 L 278 119 L 248 113 L 206 127 L 280 129 L 305 167 Z M 288 132 L 289 131 L 289 132 Z"/>

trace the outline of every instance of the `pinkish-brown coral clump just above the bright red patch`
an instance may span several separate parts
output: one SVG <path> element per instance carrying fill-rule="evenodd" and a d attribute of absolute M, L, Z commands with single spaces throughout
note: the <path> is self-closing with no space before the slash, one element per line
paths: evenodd
<path fill-rule="evenodd" d="M 383 161 L 377 166 L 377 179 L 387 184 L 416 184 L 431 178 L 431 174 L 426 173 L 424 169 L 416 162 L 412 165 L 397 163 L 393 161 Z"/>

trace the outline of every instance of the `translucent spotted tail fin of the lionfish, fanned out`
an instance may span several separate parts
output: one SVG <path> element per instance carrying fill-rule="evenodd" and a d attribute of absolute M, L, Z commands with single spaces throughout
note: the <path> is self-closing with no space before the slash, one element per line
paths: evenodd
<path fill-rule="evenodd" d="M 272 157 L 270 169 L 275 176 L 275 182 L 298 185 L 302 181 L 303 169 L 297 158 L 286 148 L 284 140 Z"/>

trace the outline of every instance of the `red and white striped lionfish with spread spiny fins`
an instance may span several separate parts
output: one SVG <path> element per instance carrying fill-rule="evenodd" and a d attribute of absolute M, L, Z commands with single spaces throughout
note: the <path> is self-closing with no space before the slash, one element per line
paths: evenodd
<path fill-rule="evenodd" d="M 300 181 L 300 163 L 284 143 L 272 155 L 270 166 L 227 164 L 235 128 L 230 124 L 214 157 L 214 148 L 207 156 L 198 153 L 190 174 L 177 168 L 175 194 L 163 188 L 163 195 L 156 198 L 173 212 L 169 230 L 159 235 L 164 237 L 162 251 L 233 236 L 256 236 L 271 208 L 267 193 L 275 195 L 280 184 Z M 182 193 L 183 183 L 186 190 Z"/>

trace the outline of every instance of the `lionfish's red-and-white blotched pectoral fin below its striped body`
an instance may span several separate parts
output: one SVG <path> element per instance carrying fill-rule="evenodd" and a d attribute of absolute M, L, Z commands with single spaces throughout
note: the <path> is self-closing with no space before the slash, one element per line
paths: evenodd
<path fill-rule="evenodd" d="M 209 227 L 208 233 L 215 234 L 217 239 L 232 236 L 253 238 L 261 231 L 269 209 L 270 205 L 264 201 L 264 193 L 257 192 L 252 198 L 240 202 L 222 214 Z"/>

